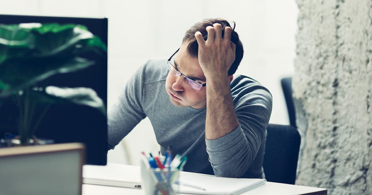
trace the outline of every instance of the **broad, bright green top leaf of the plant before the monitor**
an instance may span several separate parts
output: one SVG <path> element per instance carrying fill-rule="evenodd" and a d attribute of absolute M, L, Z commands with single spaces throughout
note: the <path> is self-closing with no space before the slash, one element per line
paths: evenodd
<path fill-rule="evenodd" d="M 107 52 L 102 40 L 85 26 L 32 24 L 35 23 L 0 25 L 0 66 L 13 58 L 28 59 L 53 55 L 72 57 L 87 51 Z"/>

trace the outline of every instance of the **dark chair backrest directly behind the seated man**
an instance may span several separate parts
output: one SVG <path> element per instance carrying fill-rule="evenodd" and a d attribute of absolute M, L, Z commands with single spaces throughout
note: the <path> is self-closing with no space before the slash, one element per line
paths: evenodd
<path fill-rule="evenodd" d="M 263 157 L 263 170 L 267 181 L 295 184 L 300 142 L 301 137 L 293 126 L 267 126 Z"/>

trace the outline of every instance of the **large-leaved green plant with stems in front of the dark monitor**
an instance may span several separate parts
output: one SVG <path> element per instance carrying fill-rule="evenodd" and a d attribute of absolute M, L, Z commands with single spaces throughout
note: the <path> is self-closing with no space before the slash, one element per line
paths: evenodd
<path fill-rule="evenodd" d="M 51 104 L 87 105 L 106 115 L 102 99 L 91 88 L 48 86 L 42 82 L 55 74 L 94 65 L 94 61 L 81 57 L 91 51 L 103 54 L 107 48 L 85 26 L 0 24 L 0 98 L 12 97 L 19 109 L 19 143 L 15 144 L 35 142 L 33 135 Z M 0 99 L 0 110 L 1 104 L 4 102 Z M 35 105 L 44 111 L 33 113 Z"/>

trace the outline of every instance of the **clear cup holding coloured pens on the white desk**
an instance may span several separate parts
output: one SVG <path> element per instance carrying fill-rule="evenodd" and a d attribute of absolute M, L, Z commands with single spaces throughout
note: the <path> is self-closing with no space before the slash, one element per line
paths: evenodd
<path fill-rule="evenodd" d="M 175 195 L 179 194 L 178 182 L 180 170 L 176 168 L 149 168 L 141 162 L 142 189 L 146 195 Z"/>

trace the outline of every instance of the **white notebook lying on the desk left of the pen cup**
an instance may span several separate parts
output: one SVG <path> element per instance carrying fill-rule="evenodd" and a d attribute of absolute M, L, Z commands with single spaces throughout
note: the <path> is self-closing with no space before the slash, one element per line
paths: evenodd
<path fill-rule="evenodd" d="M 107 163 L 106 166 L 84 165 L 83 183 L 124 188 L 139 188 L 141 174 L 138 166 Z"/>

